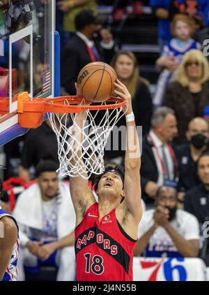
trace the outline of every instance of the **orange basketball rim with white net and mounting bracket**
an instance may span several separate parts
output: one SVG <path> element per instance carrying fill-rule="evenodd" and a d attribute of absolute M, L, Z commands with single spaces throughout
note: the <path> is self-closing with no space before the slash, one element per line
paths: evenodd
<path fill-rule="evenodd" d="M 92 173 L 104 172 L 104 147 L 111 130 L 125 113 L 122 112 L 125 101 L 120 98 L 111 97 L 92 105 L 85 105 L 85 102 L 90 103 L 83 96 L 31 99 L 27 92 L 17 96 L 17 112 L 22 127 L 37 128 L 48 114 L 58 142 L 58 172 L 62 176 L 89 178 Z M 86 122 L 81 128 L 75 118 L 82 110 L 86 110 Z M 80 141 L 72 133 L 72 125 L 79 130 Z M 79 155 L 78 151 L 81 151 Z"/>

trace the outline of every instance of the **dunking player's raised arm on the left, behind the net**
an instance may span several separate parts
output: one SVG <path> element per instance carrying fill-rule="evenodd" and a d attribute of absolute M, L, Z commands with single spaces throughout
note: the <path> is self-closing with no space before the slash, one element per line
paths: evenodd
<path fill-rule="evenodd" d="M 77 85 L 76 85 L 77 87 Z M 79 90 L 77 89 L 77 95 L 79 95 Z M 82 159 L 82 150 L 79 149 L 79 143 L 82 142 L 82 132 L 81 128 L 84 126 L 86 121 L 86 110 L 83 110 L 76 114 L 75 123 L 72 126 L 72 134 L 75 138 L 75 144 L 73 145 L 74 150 L 77 150 L 74 159 L 71 161 L 80 161 L 79 166 L 84 166 L 84 161 Z M 73 164 L 73 163 L 72 163 Z M 87 173 L 84 173 L 86 178 Z M 95 198 L 91 192 L 90 187 L 88 187 L 88 179 L 84 179 L 82 176 L 70 177 L 70 194 L 72 198 L 72 203 L 75 208 L 75 213 L 77 216 L 77 224 L 82 221 L 86 209 L 95 203 Z"/>

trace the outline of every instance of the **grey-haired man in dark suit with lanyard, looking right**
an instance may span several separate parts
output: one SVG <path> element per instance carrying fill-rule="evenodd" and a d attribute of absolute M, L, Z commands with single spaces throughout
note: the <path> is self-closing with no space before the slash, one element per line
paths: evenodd
<path fill-rule="evenodd" d="M 158 108 L 151 119 L 151 130 L 144 137 L 141 156 L 141 190 L 146 204 L 153 204 L 157 189 L 178 178 L 176 155 L 171 147 L 178 134 L 176 117 L 170 108 Z"/>

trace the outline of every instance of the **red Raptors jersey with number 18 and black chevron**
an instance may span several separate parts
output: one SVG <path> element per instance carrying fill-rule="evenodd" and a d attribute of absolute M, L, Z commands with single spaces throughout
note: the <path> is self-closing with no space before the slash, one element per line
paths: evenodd
<path fill-rule="evenodd" d="M 116 220 L 116 209 L 98 220 L 98 203 L 94 203 L 75 229 L 77 280 L 132 280 L 136 240 L 123 231 Z"/>

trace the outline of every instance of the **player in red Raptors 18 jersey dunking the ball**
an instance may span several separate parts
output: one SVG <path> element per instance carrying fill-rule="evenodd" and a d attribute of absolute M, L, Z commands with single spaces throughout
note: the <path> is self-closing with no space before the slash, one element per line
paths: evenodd
<path fill-rule="evenodd" d="M 88 187 L 88 180 L 82 176 L 70 178 L 70 193 L 76 213 L 75 253 L 79 281 L 132 280 L 132 258 L 142 214 L 139 138 L 130 93 L 118 80 L 115 87 L 116 94 L 127 103 L 125 175 L 118 168 L 109 168 L 100 175 L 96 189 L 98 203 L 95 203 Z M 85 118 L 85 112 L 77 114 L 79 127 L 83 126 Z M 73 133 L 79 138 L 76 124 L 73 128 Z"/>

